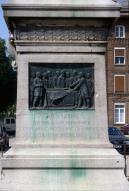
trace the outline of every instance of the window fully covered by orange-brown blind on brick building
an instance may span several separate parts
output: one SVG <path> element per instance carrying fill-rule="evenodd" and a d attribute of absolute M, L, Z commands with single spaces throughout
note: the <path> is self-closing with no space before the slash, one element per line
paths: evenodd
<path fill-rule="evenodd" d="M 125 75 L 114 76 L 114 93 L 125 92 Z"/>

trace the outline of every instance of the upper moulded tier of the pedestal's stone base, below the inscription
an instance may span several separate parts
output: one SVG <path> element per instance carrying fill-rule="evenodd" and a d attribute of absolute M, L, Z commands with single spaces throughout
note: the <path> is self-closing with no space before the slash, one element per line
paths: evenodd
<path fill-rule="evenodd" d="M 71 168 L 73 161 L 78 168 L 122 168 L 123 156 L 110 148 L 40 148 L 17 147 L 10 149 L 2 160 L 4 168 Z M 100 160 L 101 158 L 101 160 Z M 74 167 L 74 166 L 72 166 Z"/>

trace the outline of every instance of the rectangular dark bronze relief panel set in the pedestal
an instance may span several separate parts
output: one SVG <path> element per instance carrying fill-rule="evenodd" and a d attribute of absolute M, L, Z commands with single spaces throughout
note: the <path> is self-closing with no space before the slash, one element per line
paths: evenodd
<path fill-rule="evenodd" d="M 94 108 L 94 64 L 30 64 L 29 108 Z"/>

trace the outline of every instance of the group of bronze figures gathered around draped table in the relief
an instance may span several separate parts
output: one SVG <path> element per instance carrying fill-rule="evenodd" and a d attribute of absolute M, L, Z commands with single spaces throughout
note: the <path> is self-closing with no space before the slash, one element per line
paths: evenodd
<path fill-rule="evenodd" d="M 67 107 L 66 100 L 74 98 L 74 108 L 93 107 L 94 81 L 93 74 L 82 71 L 56 70 L 43 73 L 35 71 L 30 76 L 30 107 L 54 108 Z M 75 93 L 75 94 L 73 94 Z M 67 99 L 65 99 L 67 97 Z M 70 101 L 70 100 L 69 100 Z"/>

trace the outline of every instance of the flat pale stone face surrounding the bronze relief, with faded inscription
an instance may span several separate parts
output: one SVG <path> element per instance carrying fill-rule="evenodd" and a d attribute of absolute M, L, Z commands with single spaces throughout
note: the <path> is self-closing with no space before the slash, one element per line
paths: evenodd
<path fill-rule="evenodd" d="M 26 142 L 79 142 L 94 144 L 107 143 L 106 81 L 104 55 L 80 54 L 33 54 L 19 55 L 18 94 L 17 94 L 17 138 Z M 94 63 L 95 71 L 95 110 L 28 110 L 28 63 Z M 101 66 L 101 67 L 100 67 Z M 103 102 L 101 101 L 103 99 Z M 102 113 L 103 115 L 102 115 Z M 44 130 L 45 128 L 45 130 Z M 101 132 L 101 129 L 103 131 Z M 21 142 L 21 141 L 20 141 Z"/>

